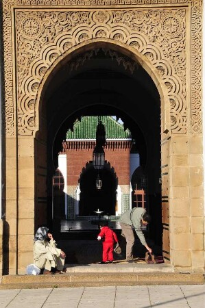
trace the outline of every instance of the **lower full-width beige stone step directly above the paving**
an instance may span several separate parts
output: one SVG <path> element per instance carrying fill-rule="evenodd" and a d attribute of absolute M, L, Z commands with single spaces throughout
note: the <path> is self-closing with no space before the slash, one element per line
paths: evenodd
<path fill-rule="evenodd" d="M 27 289 L 45 287 L 83 287 L 103 285 L 187 285 L 204 284 L 202 273 L 177 272 L 104 272 L 64 273 L 55 275 L 5 275 L 0 289 Z"/>

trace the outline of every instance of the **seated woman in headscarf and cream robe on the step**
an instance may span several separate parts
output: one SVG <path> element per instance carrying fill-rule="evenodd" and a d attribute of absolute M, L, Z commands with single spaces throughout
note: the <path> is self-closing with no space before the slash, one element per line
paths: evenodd
<path fill-rule="evenodd" d="M 47 227 L 40 227 L 34 237 L 34 264 L 43 274 L 62 273 L 66 254 L 57 248 Z"/>

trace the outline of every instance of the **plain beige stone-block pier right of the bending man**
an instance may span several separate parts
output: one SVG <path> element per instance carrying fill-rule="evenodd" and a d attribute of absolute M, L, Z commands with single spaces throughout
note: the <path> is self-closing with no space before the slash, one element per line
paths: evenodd
<path fill-rule="evenodd" d="M 204 186 L 202 136 L 171 136 L 170 250 L 181 270 L 204 268 Z"/>

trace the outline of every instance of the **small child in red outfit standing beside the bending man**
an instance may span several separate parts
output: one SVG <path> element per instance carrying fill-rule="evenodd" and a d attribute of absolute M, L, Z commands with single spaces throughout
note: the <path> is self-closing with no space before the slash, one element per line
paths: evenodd
<path fill-rule="evenodd" d="M 113 249 L 114 243 L 118 242 L 117 235 L 108 227 L 108 222 L 101 222 L 99 228 L 101 231 L 97 236 L 97 240 L 104 240 L 101 264 L 113 263 Z"/>

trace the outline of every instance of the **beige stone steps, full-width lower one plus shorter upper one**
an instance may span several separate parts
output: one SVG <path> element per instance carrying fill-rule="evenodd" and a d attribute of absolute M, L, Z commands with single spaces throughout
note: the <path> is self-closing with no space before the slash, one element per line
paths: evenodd
<path fill-rule="evenodd" d="M 98 266 L 98 267 L 97 267 Z M 64 274 L 55 275 L 4 275 L 0 290 L 55 287 L 85 287 L 106 285 L 193 285 L 204 284 L 204 274 L 173 272 L 170 266 L 160 268 L 159 264 L 130 266 L 125 264 L 114 268 L 112 265 L 73 266 Z M 158 266 L 158 268 L 157 268 Z M 146 269 L 146 271 L 145 271 Z M 165 271 L 162 271 L 162 270 Z"/>

